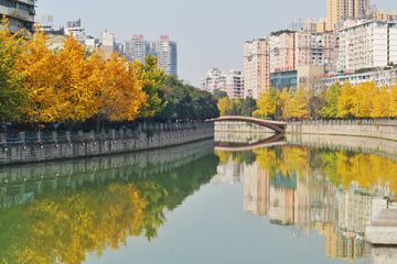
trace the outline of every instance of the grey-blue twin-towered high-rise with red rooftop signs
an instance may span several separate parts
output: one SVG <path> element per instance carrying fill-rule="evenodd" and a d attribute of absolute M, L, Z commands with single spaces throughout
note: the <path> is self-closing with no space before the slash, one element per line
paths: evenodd
<path fill-rule="evenodd" d="M 136 35 L 131 41 L 125 42 L 125 54 L 129 61 L 144 62 L 150 53 L 158 57 L 158 65 L 165 74 L 178 75 L 178 45 L 168 36 L 160 41 L 146 41 L 142 35 Z"/>

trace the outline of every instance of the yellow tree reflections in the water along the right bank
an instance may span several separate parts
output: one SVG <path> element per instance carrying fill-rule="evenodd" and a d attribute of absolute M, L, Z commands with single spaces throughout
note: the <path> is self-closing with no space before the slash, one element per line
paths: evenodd
<path fill-rule="evenodd" d="M 233 155 L 232 152 L 215 152 L 215 154 L 223 163 L 227 163 L 230 156 L 240 163 L 245 161 L 242 157 L 254 154 L 256 155 L 254 161 L 258 162 L 261 169 L 269 173 L 270 178 L 276 174 L 291 175 L 294 172 L 301 178 L 311 168 L 319 170 L 335 187 L 342 184 L 348 189 L 354 182 L 360 188 L 372 189 L 388 184 L 390 191 L 397 193 L 397 163 L 374 154 L 293 145 L 235 152 Z"/>

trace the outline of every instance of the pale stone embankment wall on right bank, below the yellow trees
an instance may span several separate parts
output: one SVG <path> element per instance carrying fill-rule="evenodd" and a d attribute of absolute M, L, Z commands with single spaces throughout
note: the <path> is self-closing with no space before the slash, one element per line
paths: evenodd
<path fill-rule="evenodd" d="M 333 134 L 369 136 L 397 140 L 397 125 L 393 124 L 354 124 L 354 123 L 288 123 L 287 133 Z"/>

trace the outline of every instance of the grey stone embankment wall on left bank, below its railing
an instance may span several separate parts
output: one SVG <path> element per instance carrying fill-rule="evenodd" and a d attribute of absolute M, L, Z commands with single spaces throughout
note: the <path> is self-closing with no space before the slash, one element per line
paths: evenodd
<path fill-rule="evenodd" d="M 118 139 L 88 142 L 2 144 L 0 146 L 0 164 L 41 162 L 150 150 L 213 136 L 214 125 L 212 123 L 202 123 L 186 129 L 158 130 L 152 138 L 148 138 L 146 132 L 138 132 L 129 139 L 120 136 Z"/>

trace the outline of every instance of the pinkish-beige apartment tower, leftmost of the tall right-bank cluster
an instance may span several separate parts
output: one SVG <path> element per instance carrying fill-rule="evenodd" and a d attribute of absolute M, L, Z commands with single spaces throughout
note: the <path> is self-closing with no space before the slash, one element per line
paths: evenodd
<path fill-rule="evenodd" d="M 270 85 L 269 38 L 247 41 L 244 44 L 244 97 L 258 99 Z"/>

